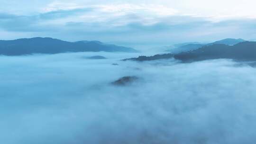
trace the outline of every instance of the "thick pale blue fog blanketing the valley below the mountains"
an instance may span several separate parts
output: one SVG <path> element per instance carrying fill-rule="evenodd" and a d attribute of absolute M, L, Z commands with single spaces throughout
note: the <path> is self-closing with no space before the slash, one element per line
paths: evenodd
<path fill-rule="evenodd" d="M 255 144 L 256 68 L 138 55 L 0 56 L 0 143 Z"/>

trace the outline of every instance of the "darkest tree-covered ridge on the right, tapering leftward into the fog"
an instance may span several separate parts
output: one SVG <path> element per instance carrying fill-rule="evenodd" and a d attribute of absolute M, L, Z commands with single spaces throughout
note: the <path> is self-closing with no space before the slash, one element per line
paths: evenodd
<path fill-rule="evenodd" d="M 234 59 L 239 61 L 256 61 L 256 42 L 241 42 L 236 45 L 213 44 L 199 49 L 178 54 L 156 54 L 154 56 L 139 56 L 126 60 L 151 61 L 174 58 L 182 62 L 195 62 L 210 59 Z"/>

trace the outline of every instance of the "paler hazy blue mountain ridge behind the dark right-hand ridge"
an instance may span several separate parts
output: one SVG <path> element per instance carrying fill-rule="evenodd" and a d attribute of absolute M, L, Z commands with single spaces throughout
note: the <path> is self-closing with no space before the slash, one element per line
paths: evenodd
<path fill-rule="evenodd" d="M 168 50 L 168 52 L 177 54 L 177 53 L 181 53 L 181 52 L 192 51 L 192 50 L 201 48 L 203 46 L 209 46 L 209 45 L 214 45 L 214 44 L 236 45 L 241 42 L 245 42 L 245 40 L 243 40 L 241 38 L 239 38 L 239 39 L 227 38 L 227 39 L 222 39 L 222 40 L 219 40 L 219 41 L 216 41 L 213 43 L 209 43 L 209 44 L 202 44 L 202 43 L 198 43 L 198 42 L 184 43 L 184 44 L 174 45 L 176 47 L 171 50 Z"/>

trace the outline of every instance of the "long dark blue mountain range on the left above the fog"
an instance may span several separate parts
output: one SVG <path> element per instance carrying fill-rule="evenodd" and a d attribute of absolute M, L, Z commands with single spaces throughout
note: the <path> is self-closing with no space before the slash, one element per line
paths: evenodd
<path fill-rule="evenodd" d="M 109 45 L 100 41 L 67 42 L 50 37 L 0 40 L 0 55 L 58 54 L 66 52 L 137 52 L 124 46 Z"/>

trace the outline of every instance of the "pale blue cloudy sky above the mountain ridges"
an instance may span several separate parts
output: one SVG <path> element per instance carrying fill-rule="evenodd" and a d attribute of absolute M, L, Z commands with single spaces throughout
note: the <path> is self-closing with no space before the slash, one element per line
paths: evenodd
<path fill-rule="evenodd" d="M 0 39 L 128 46 L 256 39 L 255 0 L 0 0 Z"/>

